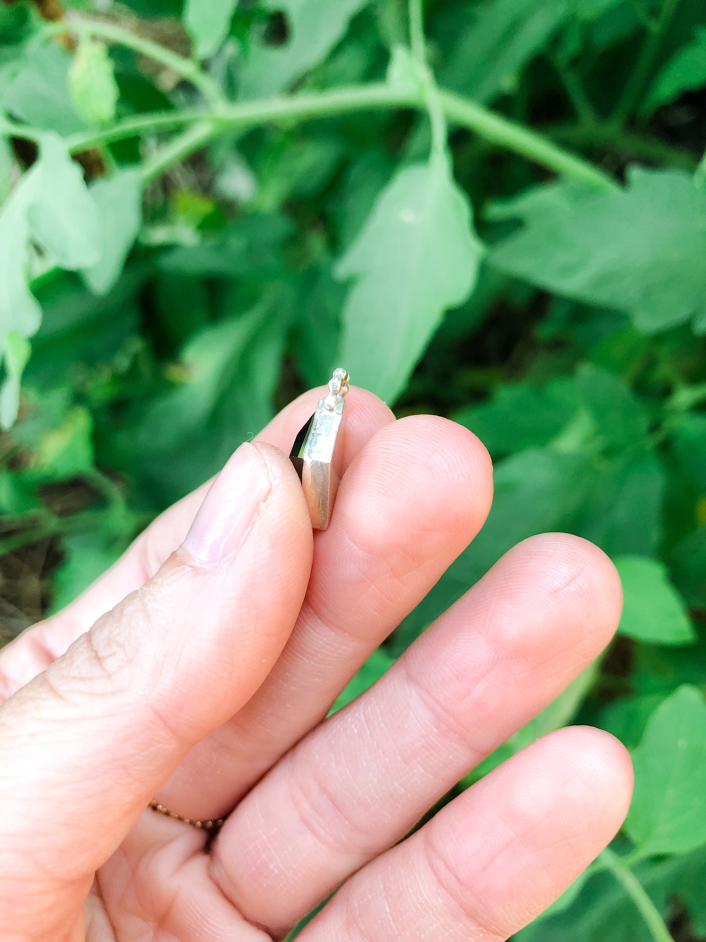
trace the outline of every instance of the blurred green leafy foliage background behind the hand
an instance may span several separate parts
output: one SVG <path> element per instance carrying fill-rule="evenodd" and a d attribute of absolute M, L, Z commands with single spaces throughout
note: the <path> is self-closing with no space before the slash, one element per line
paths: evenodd
<path fill-rule="evenodd" d="M 496 497 L 337 703 L 511 544 L 601 545 L 617 641 L 457 788 L 609 729 L 624 831 L 519 938 L 704 937 L 706 8 L 428 0 L 426 41 L 420 13 L 0 4 L 3 637 L 343 362 L 473 429 Z"/>

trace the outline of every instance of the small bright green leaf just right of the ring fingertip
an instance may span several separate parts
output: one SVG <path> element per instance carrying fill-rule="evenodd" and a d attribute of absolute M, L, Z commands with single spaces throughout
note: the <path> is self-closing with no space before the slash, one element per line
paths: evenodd
<path fill-rule="evenodd" d="M 649 644 L 696 641 L 682 598 L 663 563 L 641 556 L 619 556 L 613 561 L 623 591 L 620 634 Z"/>

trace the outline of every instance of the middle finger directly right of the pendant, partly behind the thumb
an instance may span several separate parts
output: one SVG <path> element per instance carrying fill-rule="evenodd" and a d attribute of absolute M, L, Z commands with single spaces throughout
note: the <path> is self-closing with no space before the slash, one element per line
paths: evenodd
<path fill-rule="evenodd" d="M 314 538 L 297 625 L 247 707 L 200 742 L 159 800 L 220 817 L 308 730 L 483 524 L 491 467 L 475 436 L 437 416 L 379 430 L 351 464 Z"/>

